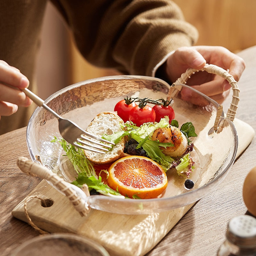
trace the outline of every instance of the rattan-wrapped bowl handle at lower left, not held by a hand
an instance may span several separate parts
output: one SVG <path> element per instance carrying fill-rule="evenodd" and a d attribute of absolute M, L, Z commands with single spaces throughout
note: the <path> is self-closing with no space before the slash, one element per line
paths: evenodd
<path fill-rule="evenodd" d="M 38 176 L 42 179 L 50 181 L 56 188 L 58 188 L 68 197 L 81 216 L 86 216 L 88 214 L 89 207 L 85 201 L 77 195 L 73 188 L 71 188 L 70 183 L 60 178 L 57 174 L 51 172 L 43 165 L 37 164 L 36 162 L 22 156 L 17 159 L 17 165 L 22 172 L 25 172 L 28 175 Z"/>

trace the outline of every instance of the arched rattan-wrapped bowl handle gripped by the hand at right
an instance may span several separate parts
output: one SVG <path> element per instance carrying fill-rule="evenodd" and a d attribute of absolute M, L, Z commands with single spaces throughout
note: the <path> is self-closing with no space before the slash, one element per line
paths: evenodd
<path fill-rule="evenodd" d="M 196 72 L 199 72 L 199 71 L 206 71 L 210 74 L 215 74 L 215 75 L 219 75 L 223 78 L 225 78 L 228 83 L 231 85 L 231 88 L 232 88 L 232 91 L 233 91 L 233 96 L 232 96 L 232 101 L 231 101 L 231 104 L 230 104 L 230 107 L 228 108 L 228 112 L 227 112 L 227 118 L 230 119 L 231 121 L 234 120 L 235 118 L 235 115 L 236 115 L 236 110 L 237 110 L 237 105 L 238 105 L 238 102 L 239 102 L 239 89 L 238 89 L 238 86 L 237 86 L 237 82 L 236 80 L 234 79 L 234 77 L 232 75 L 230 75 L 228 73 L 227 70 L 223 69 L 223 68 L 220 68 L 216 65 L 213 65 L 213 64 L 206 64 L 204 66 L 204 68 L 198 70 L 198 69 L 194 69 L 194 68 L 188 68 L 186 70 L 185 73 L 183 73 L 180 78 L 178 78 L 172 85 L 171 85 L 171 88 L 169 90 L 169 93 L 168 93 L 168 96 L 167 96 L 167 99 L 170 100 L 172 98 L 172 95 L 174 93 L 174 90 L 175 90 L 175 85 L 178 85 L 178 84 L 186 84 L 187 83 L 187 80 L 188 78 L 190 78 L 190 76 L 192 76 L 193 74 L 195 74 Z M 177 89 L 177 88 L 176 88 Z M 179 90 L 179 89 L 178 89 Z M 222 106 L 219 107 L 219 109 L 221 108 Z M 216 116 L 216 120 L 215 120 L 215 123 L 219 123 L 219 119 L 220 119 L 220 115 L 218 114 Z"/>

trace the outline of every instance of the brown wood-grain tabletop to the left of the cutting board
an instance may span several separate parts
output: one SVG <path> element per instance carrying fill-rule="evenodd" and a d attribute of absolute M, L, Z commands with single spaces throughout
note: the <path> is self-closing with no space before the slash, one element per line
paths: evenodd
<path fill-rule="evenodd" d="M 17 156 L 29 157 L 26 147 L 26 127 L 0 136 L 0 237 L 1 254 L 12 249 L 38 232 L 25 222 L 12 217 L 13 206 L 25 198 L 41 181 L 28 179 L 16 165 Z"/>

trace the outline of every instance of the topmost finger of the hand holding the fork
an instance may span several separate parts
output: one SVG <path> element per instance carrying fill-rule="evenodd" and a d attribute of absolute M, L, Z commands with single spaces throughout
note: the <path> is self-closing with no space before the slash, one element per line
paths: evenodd
<path fill-rule="evenodd" d="M 0 62 L 0 81 L 20 89 L 28 87 L 29 81 L 20 73 L 19 69 L 9 66 L 6 62 Z"/>

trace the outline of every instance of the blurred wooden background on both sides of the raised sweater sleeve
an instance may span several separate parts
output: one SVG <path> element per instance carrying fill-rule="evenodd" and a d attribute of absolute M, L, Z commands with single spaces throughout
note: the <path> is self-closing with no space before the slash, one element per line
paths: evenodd
<path fill-rule="evenodd" d="M 256 44 L 256 0 L 174 2 L 180 6 L 185 20 L 198 29 L 197 45 L 221 45 L 238 52 Z M 96 68 L 84 60 L 62 17 L 51 4 L 47 7 L 43 31 L 37 83 L 44 88 L 41 93 L 45 97 L 69 84 L 118 74 L 115 70 Z"/>

